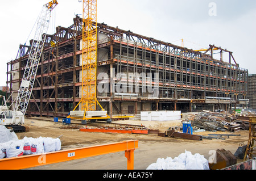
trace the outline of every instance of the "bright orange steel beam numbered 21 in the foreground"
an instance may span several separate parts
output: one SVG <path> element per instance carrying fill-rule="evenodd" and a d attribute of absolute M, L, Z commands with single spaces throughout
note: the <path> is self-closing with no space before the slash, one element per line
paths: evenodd
<path fill-rule="evenodd" d="M 23 155 L 20 157 L 0 159 L 1 170 L 19 170 L 30 167 L 66 162 L 74 159 L 94 157 L 102 154 L 125 151 L 127 169 L 134 168 L 134 150 L 138 148 L 138 140 L 128 140 L 98 146 L 88 146 L 70 150 L 60 150 L 43 154 Z"/>

